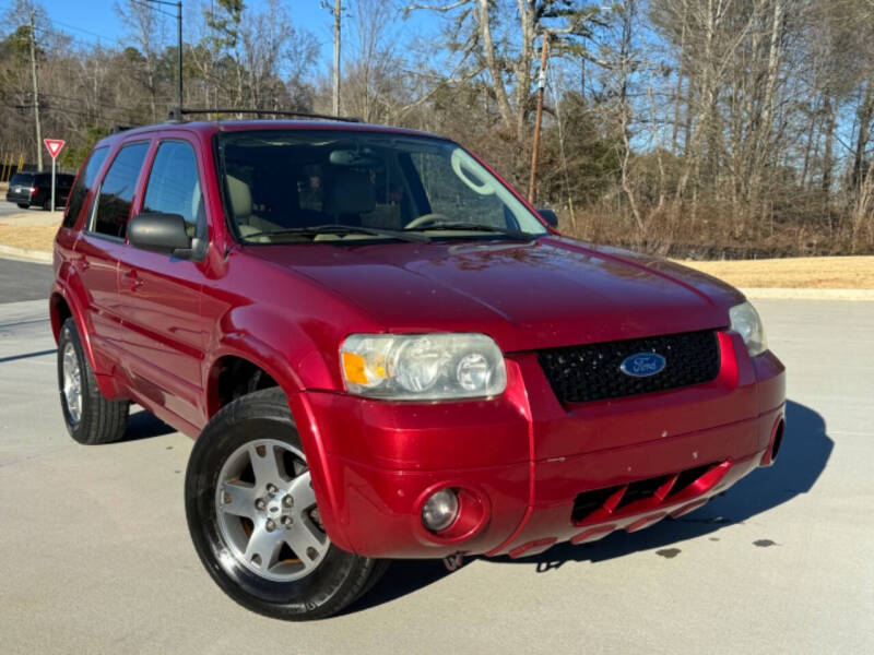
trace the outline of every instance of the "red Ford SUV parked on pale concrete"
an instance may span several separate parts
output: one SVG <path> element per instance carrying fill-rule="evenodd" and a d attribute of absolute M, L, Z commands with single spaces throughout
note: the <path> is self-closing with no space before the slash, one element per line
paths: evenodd
<path fill-rule="evenodd" d="M 393 558 L 642 528 L 780 448 L 783 367 L 737 290 L 563 237 L 430 134 L 114 134 L 79 172 L 55 271 L 70 433 L 116 441 L 135 402 L 197 438 L 194 547 L 273 617 L 334 614 Z"/>

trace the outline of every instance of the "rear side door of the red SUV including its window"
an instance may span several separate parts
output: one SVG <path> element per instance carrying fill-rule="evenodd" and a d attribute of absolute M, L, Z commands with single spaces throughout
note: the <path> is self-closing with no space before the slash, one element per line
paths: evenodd
<path fill-rule="evenodd" d="M 149 144 L 149 140 L 137 141 L 119 148 L 75 242 L 73 266 L 84 284 L 92 348 L 98 368 L 106 371 L 118 360 L 122 341 L 118 259 L 125 248 L 125 230 Z"/>

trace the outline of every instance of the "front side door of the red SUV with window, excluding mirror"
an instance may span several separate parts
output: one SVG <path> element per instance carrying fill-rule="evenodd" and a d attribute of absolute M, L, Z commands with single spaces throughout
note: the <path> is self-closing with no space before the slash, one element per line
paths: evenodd
<path fill-rule="evenodd" d="M 158 141 L 140 211 L 179 214 L 190 237 L 206 239 L 196 144 L 184 133 Z M 125 317 L 123 366 L 138 391 L 200 425 L 203 264 L 123 246 L 119 300 Z"/>

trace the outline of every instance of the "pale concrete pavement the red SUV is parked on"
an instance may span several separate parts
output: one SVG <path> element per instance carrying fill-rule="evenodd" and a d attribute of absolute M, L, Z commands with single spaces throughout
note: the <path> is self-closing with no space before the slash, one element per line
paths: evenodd
<path fill-rule="evenodd" d="M 757 303 L 789 369 L 777 465 L 701 510 L 533 559 L 393 565 L 345 615 L 228 600 L 189 543 L 190 441 L 66 434 L 45 301 L 0 306 L 4 653 L 872 653 L 874 302 Z"/>

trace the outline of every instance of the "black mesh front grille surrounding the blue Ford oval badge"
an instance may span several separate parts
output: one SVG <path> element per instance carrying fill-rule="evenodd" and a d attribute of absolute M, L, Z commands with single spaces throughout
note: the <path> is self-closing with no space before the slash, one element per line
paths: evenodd
<path fill-rule="evenodd" d="M 628 376 L 619 366 L 629 355 L 657 353 L 664 369 L 648 378 Z M 719 374 L 719 342 L 711 330 L 540 350 L 538 359 L 563 403 L 606 398 L 704 384 Z"/>

